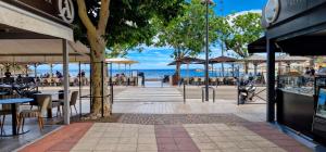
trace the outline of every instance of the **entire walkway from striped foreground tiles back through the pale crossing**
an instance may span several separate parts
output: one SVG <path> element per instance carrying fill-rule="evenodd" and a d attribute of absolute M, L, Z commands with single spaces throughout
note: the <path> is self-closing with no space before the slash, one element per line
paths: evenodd
<path fill-rule="evenodd" d="M 176 88 L 126 88 L 116 94 L 115 123 L 75 123 L 22 152 L 308 152 L 264 123 L 265 104 L 235 100 L 183 102 Z"/>

